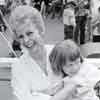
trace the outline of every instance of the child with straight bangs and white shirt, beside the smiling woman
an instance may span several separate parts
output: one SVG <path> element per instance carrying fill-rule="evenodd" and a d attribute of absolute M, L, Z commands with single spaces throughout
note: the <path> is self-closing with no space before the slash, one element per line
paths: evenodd
<path fill-rule="evenodd" d="M 58 43 L 49 59 L 54 75 L 64 83 L 51 100 L 99 100 L 94 86 L 100 80 L 100 71 L 83 60 L 72 40 Z"/>

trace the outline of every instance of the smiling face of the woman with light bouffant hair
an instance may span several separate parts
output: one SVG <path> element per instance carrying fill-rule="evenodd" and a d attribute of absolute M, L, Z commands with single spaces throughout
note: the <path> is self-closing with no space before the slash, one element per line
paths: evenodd
<path fill-rule="evenodd" d="M 41 39 L 38 29 L 32 23 L 26 23 L 20 26 L 16 35 L 21 45 L 28 49 L 33 49 L 39 44 L 39 39 Z"/>

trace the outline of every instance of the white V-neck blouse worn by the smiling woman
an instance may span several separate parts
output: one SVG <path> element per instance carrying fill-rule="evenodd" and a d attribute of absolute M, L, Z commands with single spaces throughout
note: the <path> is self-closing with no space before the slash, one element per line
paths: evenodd
<path fill-rule="evenodd" d="M 37 91 L 49 85 L 48 77 L 28 54 L 21 56 L 12 65 L 12 88 L 18 100 L 48 100 L 50 96 Z"/>

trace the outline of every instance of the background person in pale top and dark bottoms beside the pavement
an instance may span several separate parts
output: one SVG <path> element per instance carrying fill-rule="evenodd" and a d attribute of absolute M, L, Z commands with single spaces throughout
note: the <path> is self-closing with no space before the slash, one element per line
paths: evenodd
<path fill-rule="evenodd" d="M 65 5 L 63 13 L 63 24 L 64 24 L 64 39 L 73 39 L 73 32 L 76 26 L 75 24 L 75 13 L 74 13 L 74 2 L 69 2 Z"/>

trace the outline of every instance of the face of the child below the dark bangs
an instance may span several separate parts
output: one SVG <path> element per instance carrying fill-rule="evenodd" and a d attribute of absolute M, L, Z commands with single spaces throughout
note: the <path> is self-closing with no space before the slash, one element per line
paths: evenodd
<path fill-rule="evenodd" d="M 67 61 L 67 64 L 63 67 L 63 71 L 68 76 L 75 75 L 80 69 L 80 58 L 78 58 L 76 61 Z"/>

